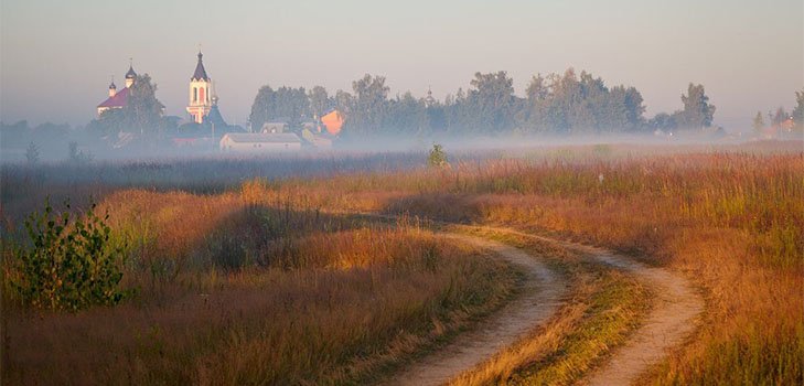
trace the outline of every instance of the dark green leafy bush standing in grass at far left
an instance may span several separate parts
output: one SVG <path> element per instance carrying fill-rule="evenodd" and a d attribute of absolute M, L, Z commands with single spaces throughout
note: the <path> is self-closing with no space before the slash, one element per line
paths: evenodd
<path fill-rule="evenodd" d="M 116 304 L 128 292 L 120 290 L 124 248 L 112 246 L 108 214 L 71 222 L 67 210 L 54 213 L 45 201 L 43 213 L 25 221 L 30 244 L 14 248 L 9 282 L 20 300 L 35 308 L 77 311 L 93 304 Z"/>

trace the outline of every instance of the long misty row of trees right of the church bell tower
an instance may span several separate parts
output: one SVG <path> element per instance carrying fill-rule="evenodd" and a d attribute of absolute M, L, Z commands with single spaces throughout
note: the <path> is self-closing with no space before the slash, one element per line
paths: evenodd
<path fill-rule="evenodd" d="M 410 92 L 390 96 L 385 77 L 365 75 L 352 90 L 330 95 L 324 87 L 262 86 L 251 106 L 254 130 L 264 122 L 315 119 L 330 108 L 345 118 L 346 137 L 373 135 L 497 135 L 497 133 L 613 133 L 653 132 L 710 127 L 715 106 L 703 85 L 689 84 L 682 109 L 647 119 L 640 92 L 623 85 L 609 87 L 590 73 L 534 76 L 525 97 L 514 94 L 506 72 L 476 73 L 467 90 L 443 100 L 415 97 Z"/>

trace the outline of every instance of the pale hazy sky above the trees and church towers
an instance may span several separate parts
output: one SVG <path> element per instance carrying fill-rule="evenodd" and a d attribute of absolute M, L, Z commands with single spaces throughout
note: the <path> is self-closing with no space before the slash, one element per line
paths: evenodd
<path fill-rule="evenodd" d="M 680 108 L 689 82 L 736 125 L 804 86 L 804 6 L 778 1 L 89 1 L 0 0 L 0 118 L 84 125 L 135 69 L 185 117 L 202 44 L 229 122 L 257 89 L 351 90 L 365 73 L 392 94 L 442 98 L 504 69 L 523 95 L 536 73 L 573 66 L 642 92 L 647 114 Z M 746 124 L 748 124 L 746 121 Z"/>

